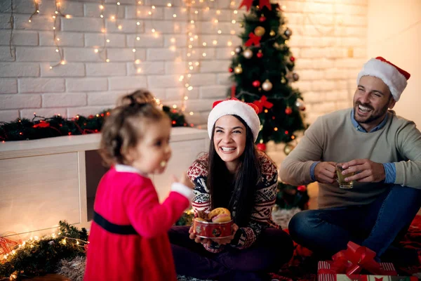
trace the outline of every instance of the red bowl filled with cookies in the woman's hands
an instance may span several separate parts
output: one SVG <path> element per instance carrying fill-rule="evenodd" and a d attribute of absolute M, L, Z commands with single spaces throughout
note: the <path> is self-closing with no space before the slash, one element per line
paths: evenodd
<path fill-rule="evenodd" d="M 216 208 L 204 216 L 194 218 L 193 233 L 196 236 L 208 239 L 229 237 L 231 230 L 231 213 L 225 208 Z"/>

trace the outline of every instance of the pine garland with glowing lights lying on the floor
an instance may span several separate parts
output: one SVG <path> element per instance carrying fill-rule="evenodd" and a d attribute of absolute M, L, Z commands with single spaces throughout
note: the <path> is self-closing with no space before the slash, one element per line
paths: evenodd
<path fill-rule="evenodd" d="M 15 248 L 15 254 L 1 257 L 0 278 L 11 280 L 55 273 L 62 259 L 85 256 L 88 233 L 60 221 L 58 233 L 28 240 Z"/>

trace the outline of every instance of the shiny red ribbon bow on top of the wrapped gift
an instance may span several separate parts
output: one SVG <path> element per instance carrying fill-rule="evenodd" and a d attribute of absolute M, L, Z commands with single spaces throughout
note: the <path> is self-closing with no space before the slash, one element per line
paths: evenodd
<path fill-rule="evenodd" d="M 380 263 L 374 260 L 375 256 L 374 251 L 349 241 L 347 249 L 338 251 L 332 256 L 333 262 L 330 263 L 330 268 L 321 268 L 318 274 L 352 275 L 366 269 L 376 275 L 396 275 L 394 271 L 382 269 Z"/>

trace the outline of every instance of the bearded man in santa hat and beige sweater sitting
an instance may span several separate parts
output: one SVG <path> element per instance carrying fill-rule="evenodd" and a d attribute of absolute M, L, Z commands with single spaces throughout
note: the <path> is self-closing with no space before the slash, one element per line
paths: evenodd
<path fill-rule="evenodd" d="M 292 185 L 319 182 L 319 210 L 302 211 L 289 223 L 295 242 L 331 256 L 350 240 L 377 259 L 406 230 L 421 207 L 421 133 L 392 109 L 410 77 L 384 58 L 359 72 L 354 107 L 319 119 L 281 164 Z M 342 189 L 335 164 L 343 163 L 354 188 Z"/>

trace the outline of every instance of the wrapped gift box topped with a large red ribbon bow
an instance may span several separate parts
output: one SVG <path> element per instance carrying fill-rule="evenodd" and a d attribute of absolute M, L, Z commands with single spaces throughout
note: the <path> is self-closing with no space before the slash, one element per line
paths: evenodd
<path fill-rule="evenodd" d="M 396 276 L 392 263 L 377 263 L 375 252 L 349 242 L 347 249 L 332 256 L 332 261 L 319 261 L 318 281 L 416 281 L 416 277 Z M 369 275 L 361 275 L 365 270 Z"/>

